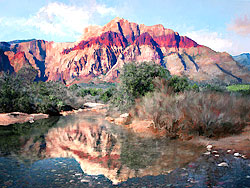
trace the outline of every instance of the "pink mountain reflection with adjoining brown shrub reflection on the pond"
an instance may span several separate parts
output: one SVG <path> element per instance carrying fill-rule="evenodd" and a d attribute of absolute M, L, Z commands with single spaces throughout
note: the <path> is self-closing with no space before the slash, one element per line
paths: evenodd
<path fill-rule="evenodd" d="M 100 119 L 76 117 L 50 129 L 45 156 L 74 158 L 84 173 L 104 175 L 117 184 L 128 178 L 167 174 L 203 151 L 184 142 L 139 138 Z"/>

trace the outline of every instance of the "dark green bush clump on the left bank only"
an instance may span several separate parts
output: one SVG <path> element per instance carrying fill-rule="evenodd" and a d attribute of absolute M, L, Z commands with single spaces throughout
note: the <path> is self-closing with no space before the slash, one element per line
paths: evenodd
<path fill-rule="evenodd" d="M 22 68 L 16 75 L 0 77 L 0 112 L 58 115 L 83 105 L 83 99 L 61 82 L 35 82 L 37 72 Z"/>

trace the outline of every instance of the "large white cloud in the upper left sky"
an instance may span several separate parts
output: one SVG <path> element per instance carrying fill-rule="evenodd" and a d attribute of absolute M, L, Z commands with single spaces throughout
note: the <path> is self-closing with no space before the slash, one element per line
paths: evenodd
<path fill-rule="evenodd" d="M 115 14 L 114 8 L 95 0 L 87 1 L 83 6 L 52 2 L 29 18 L 0 18 L 0 25 L 23 29 L 33 27 L 45 35 L 77 39 L 83 29 L 94 24 L 96 19 Z"/>

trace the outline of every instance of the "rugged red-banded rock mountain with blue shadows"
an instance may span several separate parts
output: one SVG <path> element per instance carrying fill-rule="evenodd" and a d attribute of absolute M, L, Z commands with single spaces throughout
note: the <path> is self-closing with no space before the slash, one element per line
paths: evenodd
<path fill-rule="evenodd" d="M 0 71 L 32 66 L 43 81 L 115 81 L 124 63 L 132 61 L 154 61 L 172 75 L 198 82 L 250 82 L 249 70 L 227 53 L 215 52 L 162 25 L 139 25 L 121 18 L 85 28 L 75 43 L 0 43 Z"/>

